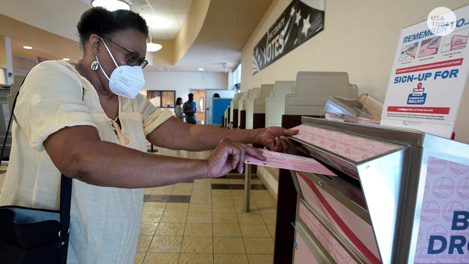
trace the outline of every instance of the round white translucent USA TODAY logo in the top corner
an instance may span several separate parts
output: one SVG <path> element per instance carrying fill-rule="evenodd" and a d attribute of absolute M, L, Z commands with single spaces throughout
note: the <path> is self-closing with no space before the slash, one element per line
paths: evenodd
<path fill-rule="evenodd" d="M 428 14 L 426 25 L 437 36 L 448 36 L 456 28 L 456 15 L 447 7 L 437 7 Z"/>

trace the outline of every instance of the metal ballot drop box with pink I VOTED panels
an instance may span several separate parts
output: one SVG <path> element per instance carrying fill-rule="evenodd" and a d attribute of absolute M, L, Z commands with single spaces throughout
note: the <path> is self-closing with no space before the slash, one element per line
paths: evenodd
<path fill-rule="evenodd" d="M 469 263 L 469 145 L 302 117 L 292 137 L 338 176 L 291 171 L 294 264 Z"/>

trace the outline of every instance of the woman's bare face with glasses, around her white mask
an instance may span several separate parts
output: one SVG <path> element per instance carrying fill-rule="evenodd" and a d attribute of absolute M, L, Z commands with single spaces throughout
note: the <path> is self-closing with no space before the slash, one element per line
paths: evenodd
<path fill-rule="evenodd" d="M 93 34 L 90 37 L 90 42 L 92 41 L 92 38 L 94 38 L 94 41 L 96 42 L 95 46 L 97 47 L 96 56 L 99 59 L 101 67 L 106 71 L 107 76 L 110 77 L 112 71 L 116 68 L 116 65 L 112 61 L 111 56 L 107 52 L 106 46 L 102 43 L 99 37 L 101 36 Z M 103 40 L 109 48 L 109 51 L 112 53 L 118 66 L 140 66 L 145 59 L 145 54 L 147 52 L 146 37 L 136 30 L 129 29 L 117 32 L 108 38 L 103 38 Z M 106 76 L 104 76 L 101 70 L 97 71 L 97 74 L 104 88 L 110 92 L 109 82 Z"/>

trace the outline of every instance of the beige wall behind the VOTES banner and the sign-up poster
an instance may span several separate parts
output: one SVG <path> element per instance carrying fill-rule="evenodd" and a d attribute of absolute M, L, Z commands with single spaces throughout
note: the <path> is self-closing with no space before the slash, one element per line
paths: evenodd
<path fill-rule="evenodd" d="M 426 20 L 435 7 L 450 9 L 468 0 L 326 0 L 324 30 L 274 64 L 252 75 L 253 49 L 291 0 L 274 0 L 243 48 L 241 90 L 276 80 L 295 80 L 298 71 L 346 71 L 360 93 L 384 101 L 400 29 Z M 468 88 L 466 88 L 468 90 Z M 463 118 L 463 115 L 466 118 Z M 463 98 L 456 139 L 469 142 L 469 92 Z"/>

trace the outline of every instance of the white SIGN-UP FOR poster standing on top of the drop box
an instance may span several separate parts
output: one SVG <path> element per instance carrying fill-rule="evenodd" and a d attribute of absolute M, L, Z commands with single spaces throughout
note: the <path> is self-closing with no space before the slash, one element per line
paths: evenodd
<path fill-rule="evenodd" d="M 451 137 L 469 72 L 469 5 L 447 10 L 401 30 L 382 125 Z"/>

